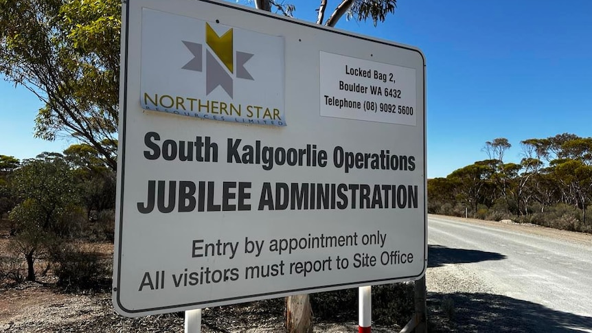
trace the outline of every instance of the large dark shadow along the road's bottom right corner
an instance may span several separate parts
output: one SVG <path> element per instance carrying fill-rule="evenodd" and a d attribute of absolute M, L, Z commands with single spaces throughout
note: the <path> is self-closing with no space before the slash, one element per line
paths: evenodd
<path fill-rule="evenodd" d="M 592 332 L 592 317 L 501 295 L 428 292 L 431 332 Z"/>

